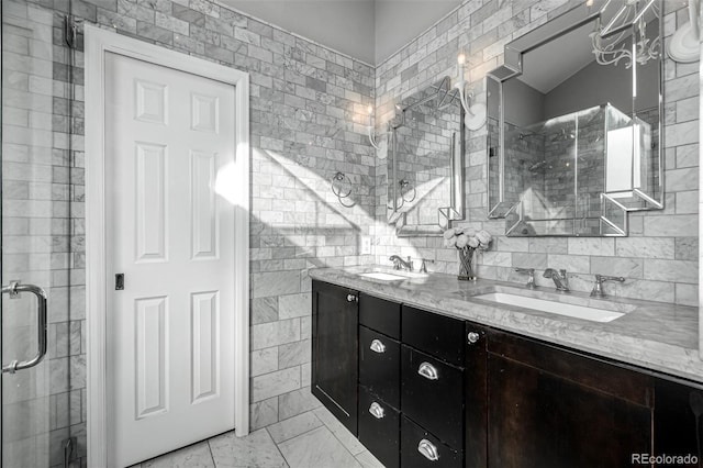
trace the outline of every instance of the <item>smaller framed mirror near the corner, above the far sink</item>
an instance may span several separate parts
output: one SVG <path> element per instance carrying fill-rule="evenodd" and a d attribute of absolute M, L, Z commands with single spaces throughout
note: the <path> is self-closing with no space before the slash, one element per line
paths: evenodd
<path fill-rule="evenodd" d="M 449 77 L 398 105 L 388 158 L 388 222 L 399 236 L 442 235 L 464 219 L 464 115 Z"/>

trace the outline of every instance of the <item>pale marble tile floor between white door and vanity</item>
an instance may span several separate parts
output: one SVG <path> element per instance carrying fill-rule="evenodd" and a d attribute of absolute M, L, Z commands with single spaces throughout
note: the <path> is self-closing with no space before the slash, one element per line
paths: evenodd
<path fill-rule="evenodd" d="M 221 434 L 131 468 L 382 468 L 324 406 L 237 438 Z"/>

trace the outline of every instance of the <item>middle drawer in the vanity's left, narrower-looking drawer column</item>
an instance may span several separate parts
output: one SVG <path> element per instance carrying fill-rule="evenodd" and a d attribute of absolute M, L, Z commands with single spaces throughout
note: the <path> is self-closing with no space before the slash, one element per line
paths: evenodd
<path fill-rule="evenodd" d="M 359 383 L 400 408 L 400 343 L 359 326 Z"/>

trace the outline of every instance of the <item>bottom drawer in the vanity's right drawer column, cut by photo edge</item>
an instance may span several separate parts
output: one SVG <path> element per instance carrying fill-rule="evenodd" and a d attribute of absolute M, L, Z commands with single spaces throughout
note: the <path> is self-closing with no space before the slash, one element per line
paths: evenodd
<path fill-rule="evenodd" d="M 403 468 L 461 467 L 461 452 L 443 444 L 408 417 L 401 420 L 400 463 Z"/>

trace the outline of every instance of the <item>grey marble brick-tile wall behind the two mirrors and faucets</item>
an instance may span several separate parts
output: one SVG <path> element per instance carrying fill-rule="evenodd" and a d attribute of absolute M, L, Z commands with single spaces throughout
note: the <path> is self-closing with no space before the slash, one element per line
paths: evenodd
<path fill-rule="evenodd" d="M 376 69 L 377 129 L 392 118 L 395 102 L 436 81 L 456 75 L 459 49 L 467 55 L 465 78 L 479 101 L 486 102 L 487 71 L 503 63 L 506 43 L 579 3 L 567 0 L 467 0 L 457 10 L 408 44 Z M 662 2 L 665 40 L 688 21 L 684 2 Z M 524 282 L 515 267 L 566 268 L 572 289 L 589 291 L 593 274 L 624 276 L 625 283 L 607 283 L 610 294 L 698 305 L 698 155 L 699 64 L 665 59 L 665 190 L 661 211 L 632 213 L 629 236 L 622 238 L 509 238 L 502 220 L 488 221 L 486 136 L 483 126 L 469 132 L 466 156 L 467 220 L 457 225 L 482 227 L 494 236 L 478 258 L 482 278 Z M 386 221 L 386 161 L 377 161 L 378 263 L 388 256 L 431 258 L 438 271 L 458 270 L 457 253 L 440 238 L 400 238 Z M 549 286 L 542 275 L 538 283 Z"/>

